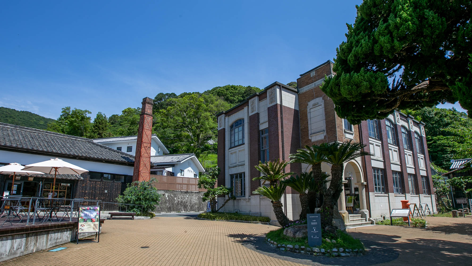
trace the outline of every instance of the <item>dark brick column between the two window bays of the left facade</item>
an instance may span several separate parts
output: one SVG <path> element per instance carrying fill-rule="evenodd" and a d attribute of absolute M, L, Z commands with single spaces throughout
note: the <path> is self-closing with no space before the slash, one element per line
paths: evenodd
<path fill-rule="evenodd" d="M 254 166 L 259 164 L 261 160 L 261 138 L 259 134 L 259 113 L 254 113 L 249 116 L 249 182 L 250 184 L 250 195 L 253 195 L 253 191 L 261 185 L 261 180 L 253 180 L 254 177 L 261 176 Z M 270 150 L 270 148 L 269 148 Z M 269 151 L 270 153 L 270 151 Z"/>

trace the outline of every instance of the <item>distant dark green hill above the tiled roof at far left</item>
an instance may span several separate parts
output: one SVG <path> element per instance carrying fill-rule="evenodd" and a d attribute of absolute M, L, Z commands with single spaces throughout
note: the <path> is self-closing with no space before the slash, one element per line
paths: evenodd
<path fill-rule="evenodd" d="M 15 109 L 0 107 L 0 122 L 16 124 L 37 129 L 46 129 L 48 123 L 56 120 L 41 115 L 36 115 L 28 111 L 17 111 Z"/>

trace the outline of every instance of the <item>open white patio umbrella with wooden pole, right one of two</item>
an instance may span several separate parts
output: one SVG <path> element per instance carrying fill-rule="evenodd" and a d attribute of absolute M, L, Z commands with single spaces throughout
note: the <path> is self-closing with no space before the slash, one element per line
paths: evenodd
<path fill-rule="evenodd" d="M 52 195 L 54 197 L 54 187 L 56 186 L 56 175 L 68 174 L 68 175 L 80 175 L 88 172 L 88 170 L 68 163 L 67 161 L 60 160 L 58 158 L 51 159 L 48 161 L 42 161 L 37 163 L 28 164 L 25 169 L 42 171 L 47 174 L 54 173 L 54 183 L 52 184 Z"/>

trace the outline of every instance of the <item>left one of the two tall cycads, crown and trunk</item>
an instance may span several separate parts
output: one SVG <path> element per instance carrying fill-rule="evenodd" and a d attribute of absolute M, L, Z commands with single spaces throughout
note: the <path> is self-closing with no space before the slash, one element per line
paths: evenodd
<path fill-rule="evenodd" d="M 316 193 L 320 192 L 324 194 L 326 187 L 324 186 L 326 176 L 323 176 L 324 173 L 321 172 L 321 163 L 326 161 L 325 154 L 320 151 L 319 145 L 313 145 L 312 147 L 306 145 L 305 149 L 298 149 L 297 153 L 290 154 L 289 156 L 290 163 L 298 162 L 304 163 L 312 166 L 312 175 L 313 175 L 313 188 L 317 188 L 316 191 L 309 190 L 308 194 L 308 206 L 310 212 L 314 212 L 316 207 Z M 314 196 L 313 196 L 314 193 Z"/>

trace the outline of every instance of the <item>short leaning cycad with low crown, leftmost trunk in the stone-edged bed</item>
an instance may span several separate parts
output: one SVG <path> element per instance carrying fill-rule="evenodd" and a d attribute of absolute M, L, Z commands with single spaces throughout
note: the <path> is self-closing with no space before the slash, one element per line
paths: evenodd
<path fill-rule="evenodd" d="M 282 195 L 285 193 L 285 188 L 287 185 L 284 183 L 277 184 L 275 183 L 273 186 L 260 186 L 253 194 L 259 194 L 262 196 L 266 196 L 270 199 L 272 203 L 272 207 L 274 208 L 275 217 L 277 218 L 278 223 L 282 227 L 286 227 L 290 220 L 288 220 L 287 215 L 285 215 L 284 211 L 282 210 L 283 204 L 280 201 Z"/>

